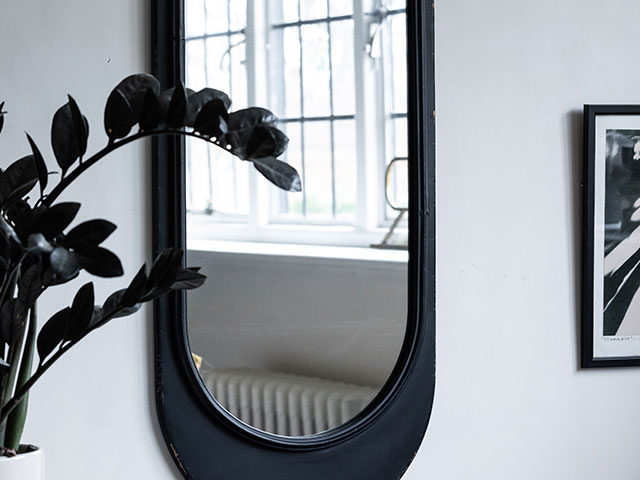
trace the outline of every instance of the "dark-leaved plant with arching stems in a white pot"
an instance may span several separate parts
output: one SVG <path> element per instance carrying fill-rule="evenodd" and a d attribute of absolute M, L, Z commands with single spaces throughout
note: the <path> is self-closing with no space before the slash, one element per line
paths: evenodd
<path fill-rule="evenodd" d="M 37 300 L 49 288 L 85 270 L 96 277 L 123 274 L 118 257 L 100 245 L 116 226 L 95 219 L 72 226 L 80 209 L 56 202 L 82 173 L 114 150 L 154 135 L 186 135 L 228 150 L 276 186 L 299 191 L 294 168 L 277 159 L 288 139 L 268 110 L 229 112 L 231 100 L 218 90 L 199 92 L 182 84 L 161 91 L 151 75 L 125 78 L 109 95 L 104 112 L 107 145 L 86 156 L 89 124 L 74 101 L 58 109 L 51 144 L 58 172 L 50 172 L 27 134 L 31 153 L 0 169 L 0 478 L 37 480 L 42 454 L 21 445 L 31 387 L 51 366 L 92 331 L 114 318 L 136 312 L 142 303 L 205 281 L 198 268 L 183 267 L 183 252 L 167 249 L 149 270 L 143 265 L 131 282 L 103 302 L 93 282 L 80 287 L 69 306 L 42 322 Z M 0 103 L 0 131 L 6 112 Z M 134 126 L 137 131 L 132 132 Z M 50 188 L 50 177 L 58 173 Z M 32 193 L 32 192 L 35 192 Z M 37 357 L 36 357 L 37 353 Z M 37 360 L 36 360 L 37 358 Z"/>

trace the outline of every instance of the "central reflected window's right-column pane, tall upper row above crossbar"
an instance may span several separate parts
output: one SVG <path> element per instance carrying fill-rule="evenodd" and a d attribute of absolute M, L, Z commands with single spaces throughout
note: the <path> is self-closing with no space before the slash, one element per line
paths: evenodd
<path fill-rule="evenodd" d="M 353 20 L 331 22 L 331 62 L 333 67 L 333 113 L 354 115 L 355 67 L 353 60 Z"/>

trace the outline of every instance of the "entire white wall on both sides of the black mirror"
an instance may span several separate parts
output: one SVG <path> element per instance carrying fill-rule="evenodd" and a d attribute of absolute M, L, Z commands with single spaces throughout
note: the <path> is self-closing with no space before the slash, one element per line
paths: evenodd
<path fill-rule="evenodd" d="M 640 102 L 640 3 L 437 3 L 437 392 L 405 478 L 635 480 L 640 372 L 577 370 L 576 112 Z M 103 138 L 109 89 L 148 64 L 147 12 L 142 0 L 3 2 L 5 159 L 26 151 L 22 130 L 46 144 L 67 92 Z M 84 215 L 120 225 L 110 246 L 127 272 L 148 252 L 145 152 L 74 190 Z M 94 334 L 35 388 L 27 439 L 46 449 L 49 479 L 177 478 L 156 433 L 149 320 Z"/>

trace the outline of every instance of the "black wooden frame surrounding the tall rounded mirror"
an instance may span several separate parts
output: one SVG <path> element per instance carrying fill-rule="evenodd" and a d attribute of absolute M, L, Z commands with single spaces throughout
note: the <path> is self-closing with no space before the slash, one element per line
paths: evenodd
<path fill-rule="evenodd" d="M 184 79 L 181 0 L 152 5 L 152 68 L 163 87 Z M 427 428 L 435 388 L 434 4 L 407 2 L 409 292 L 404 344 L 389 380 L 349 423 L 308 437 L 248 427 L 202 383 L 188 348 L 185 299 L 154 310 L 156 404 L 171 455 L 187 479 L 400 478 Z M 153 250 L 185 248 L 184 140 L 153 143 Z"/>

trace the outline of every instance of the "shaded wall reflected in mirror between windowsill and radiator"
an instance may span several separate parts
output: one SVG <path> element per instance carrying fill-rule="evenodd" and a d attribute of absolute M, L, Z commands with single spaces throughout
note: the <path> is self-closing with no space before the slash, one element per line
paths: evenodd
<path fill-rule="evenodd" d="M 405 262 L 190 250 L 191 351 L 249 367 L 380 388 L 407 318 Z"/>

